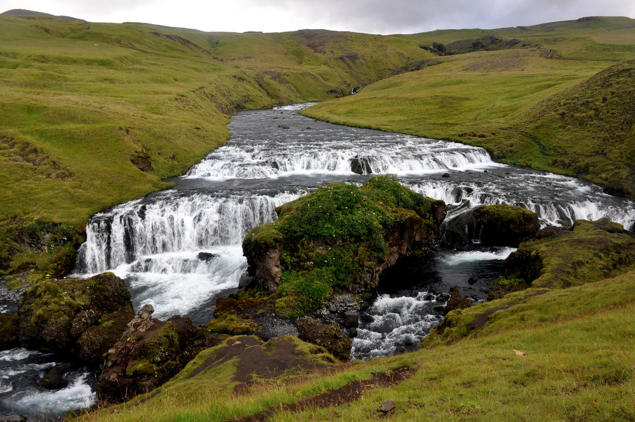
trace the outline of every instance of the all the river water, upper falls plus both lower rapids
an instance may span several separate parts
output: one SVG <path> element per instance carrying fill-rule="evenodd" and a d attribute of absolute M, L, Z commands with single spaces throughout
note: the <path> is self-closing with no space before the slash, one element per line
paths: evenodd
<path fill-rule="evenodd" d="M 93 215 L 70 276 L 112 271 L 126 280 L 135 310 L 153 304 L 156 318 L 180 314 L 205 324 L 216 297 L 237 289 L 246 270 L 241 242 L 251 228 L 274 221 L 274 208 L 316 187 L 361 184 L 375 174 L 394 175 L 404 186 L 445 201 L 446 221 L 480 205 L 508 203 L 533 210 L 543 226 L 609 217 L 630 229 L 635 222 L 634 201 L 583 180 L 494 163 L 478 147 L 300 116 L 297 111 L 309 105 L 239 112 L 229 124 L 227 146 L 184 176 L 168 179 L 175 187 Z M 484 300 L 509 253 L 442 249 L 434 259 L 387 271 L 382 285 L 389 288 L 363 315 L 352 357 L 415 348 L 441 322 L 438 309 L 450 287 Z M 0 415 L 50 409 L 59 416 L 94 402 L 86 372 L 70 374 L 72 383 L 62 390 L 38 390 L 37 377 L 56 357 L 2 353 Z"/>

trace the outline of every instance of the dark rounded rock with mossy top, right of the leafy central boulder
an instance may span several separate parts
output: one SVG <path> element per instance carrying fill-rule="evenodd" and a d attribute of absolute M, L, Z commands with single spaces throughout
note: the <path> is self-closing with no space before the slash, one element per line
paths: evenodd
<path fill-rule="evenodd" d="M 443 242 L 455 248 L 486 246 L 518 247 L 540 228 L 538 216 L 521 207 L 485 205 L 458 215 L 448 223 Z"/>

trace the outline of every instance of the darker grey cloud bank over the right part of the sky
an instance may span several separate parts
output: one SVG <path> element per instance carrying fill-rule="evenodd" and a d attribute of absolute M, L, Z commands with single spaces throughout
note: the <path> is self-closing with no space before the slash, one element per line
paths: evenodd
<path fill-rule="evenodd" d="M 589 15 L 635 15 L 632 0 L 240 0 L 291 12 L 309 27 L 382 34 L 533 25 Z M 300 29 L 300 28 L 298 28 Z"/>

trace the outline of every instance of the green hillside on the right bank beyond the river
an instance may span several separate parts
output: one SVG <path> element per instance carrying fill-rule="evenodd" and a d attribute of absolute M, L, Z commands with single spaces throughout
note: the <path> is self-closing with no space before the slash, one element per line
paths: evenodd
<path fill-rule="evenodd" d="M 635 20 L 601 19 L 403 36 L 448 43 L 494 32 L 529 46 L 422 60 L 404 68 L 418 71 L 304 114 L 482 146 L 498 161 L 602 184 L 624 180 L 634 196 Z"/>

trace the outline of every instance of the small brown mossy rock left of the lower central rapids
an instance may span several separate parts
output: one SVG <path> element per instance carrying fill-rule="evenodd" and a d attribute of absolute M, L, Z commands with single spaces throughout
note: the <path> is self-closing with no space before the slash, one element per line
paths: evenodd
<path fill-rule="evenodd" d="M 347 337 L 338 323 L 324 325 L 310 317 L 298 318 L 298 339 L 322 346 L 339 360 L 349 360 L 351 355 L 351 339 Z"/>

